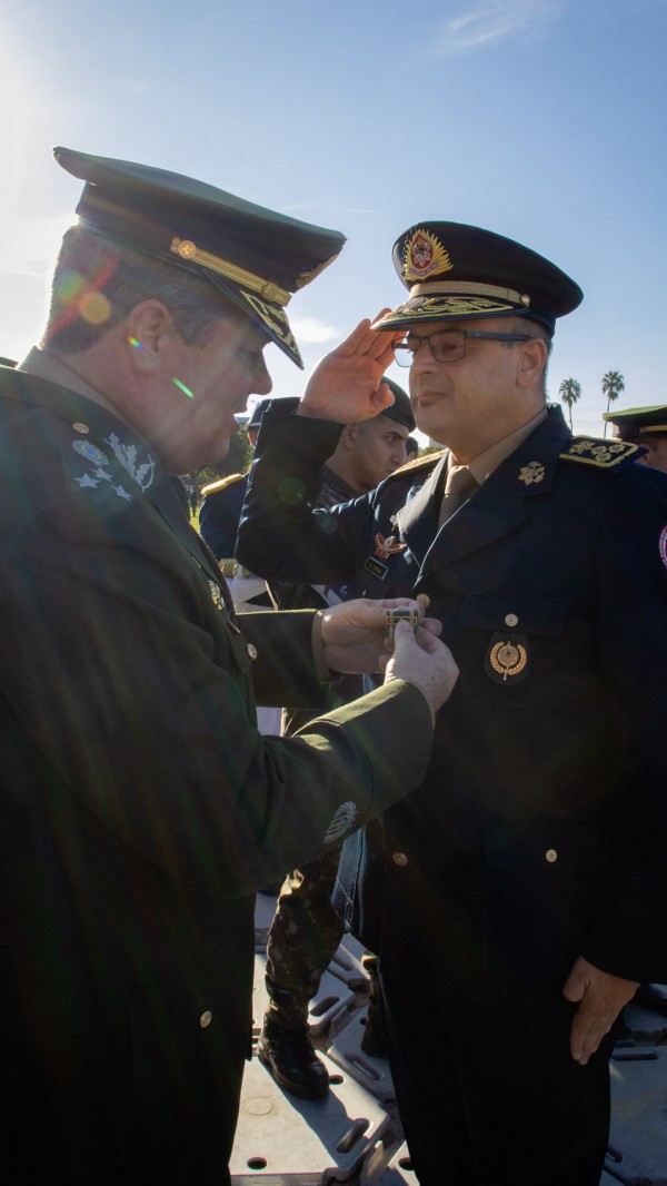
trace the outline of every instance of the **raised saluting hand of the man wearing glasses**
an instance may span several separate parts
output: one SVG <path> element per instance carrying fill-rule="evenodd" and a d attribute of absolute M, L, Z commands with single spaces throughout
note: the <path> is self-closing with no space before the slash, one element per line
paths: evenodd
<path fill-rule="evenodd" d="M 387 313 L 381 310 L 378 317 Z M 366 318 L 340 346 L 332 350 L 308 380 L 297 416 L 334 420 L 341 425 L 370 420 L 393 403 L 380 380 L 393 362 L 392 342 L 402 334 L 373 331 Z"/>

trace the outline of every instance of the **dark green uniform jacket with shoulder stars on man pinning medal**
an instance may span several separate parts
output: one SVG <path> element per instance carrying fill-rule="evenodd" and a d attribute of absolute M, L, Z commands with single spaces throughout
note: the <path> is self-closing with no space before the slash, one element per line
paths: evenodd
<path fill-rule="evenodd" d="M 428 707 L 399 683 L 261 737 L 252 676 L 321 695 L 312 614 L 242 632 L 148 446 L 89 400 L 2 371 L 0 486 L 5 1148 L 26 1177 L 224 1182 L 254 891 L 403 793 Z"/>

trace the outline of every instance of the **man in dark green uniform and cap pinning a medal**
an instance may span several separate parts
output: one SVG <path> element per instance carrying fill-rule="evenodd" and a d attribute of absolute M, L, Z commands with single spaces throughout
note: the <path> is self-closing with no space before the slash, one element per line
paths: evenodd
<path fill-rule="evenodd" d="M 404 630 L 384 688 L 258 733 L 252 674 L 316 702 L 327 669 L 374 665 L 386 614 L 242 627 L 171 476 L 225 457 L 269 340 L 299 361 L 284 306 L 342 238 L 56 155 L 79 222 L 40 346 L 0 369 L 2 1148 L 26 1181 L 220 1186 L 254 892 L 419 780 L 455 669 Z"/>

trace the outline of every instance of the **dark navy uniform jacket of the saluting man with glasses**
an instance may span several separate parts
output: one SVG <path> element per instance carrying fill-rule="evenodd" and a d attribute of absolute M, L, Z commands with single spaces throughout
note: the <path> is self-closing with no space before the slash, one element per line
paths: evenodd
<path fill-rule="evenodd" d="M 424 592 L 461 668 L 427 778 L 384 817 L 385 967 L 455 962 L 460 935 L 553 987 L 577 954 L 665 981 L 667 479 L 552 408 L 440 530 L 447 454 L 322 512 L 340 426 L 291 407 L 263 421 L 240 561 Z"/>

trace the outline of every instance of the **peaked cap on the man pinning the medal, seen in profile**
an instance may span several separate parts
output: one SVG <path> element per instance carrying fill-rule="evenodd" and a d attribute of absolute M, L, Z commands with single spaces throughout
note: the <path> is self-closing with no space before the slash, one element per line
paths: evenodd
<path fill-rule="evenodd" d="M 53 154 L 85 181 L 76 210 L 82 227 L 206 279 L 303 368 L 284 310 L 293 293 L 335 260 L 345 243 L 340 231 L 180 173 L 71 148 Z"/>

